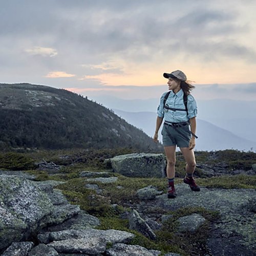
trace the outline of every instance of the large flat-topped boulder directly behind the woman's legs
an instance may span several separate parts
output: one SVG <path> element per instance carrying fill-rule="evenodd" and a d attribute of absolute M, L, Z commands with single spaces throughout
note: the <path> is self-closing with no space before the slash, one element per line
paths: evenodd
<path fill-rule="evenodd" d="M 127 177 L 164 177 L 165 157 L 163 154 L 128 154 L 111 158 L 116 173 Z"/>

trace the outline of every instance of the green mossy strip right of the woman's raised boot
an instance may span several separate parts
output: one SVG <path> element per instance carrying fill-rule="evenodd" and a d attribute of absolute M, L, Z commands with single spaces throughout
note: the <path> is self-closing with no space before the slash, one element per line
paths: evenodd
<path fill-rule="evenodd" d="M 256 188 L 256 176 L 236 175 L 208 179 L 197 179 L 199 185 L 207 188 Z"/>

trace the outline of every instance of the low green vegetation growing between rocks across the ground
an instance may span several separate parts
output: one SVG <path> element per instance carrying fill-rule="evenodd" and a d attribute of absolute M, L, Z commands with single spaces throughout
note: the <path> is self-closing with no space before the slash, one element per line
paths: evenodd
<path fill-rule="evenodd" d="M 156 231 L 157 240 L 152 241 L 137 231 L 129 229 L 129 221 L 125 213 L 130 211 L 129 206 L 138 203 L 136 191 L 148 185 L 155 186 L 158 190 L 166 190 L 165 178 L 129 178 L 113 173 L 104 160 L 121 154 L 134 153 L 131 148 L 115 148 L 111 150 L 70 150 L 70 151 L 29 151 L 0 153 L 0 168 L 12 170 L 27 170 L 36 176 L 36 180 L 59 180 L 67 183 L 59 184 L 56 188 L 61 189 L 70 203 L 80 205 L 89 214 L 100 219 L 99 229 L 118 229 L 133 232 L 135 234 L 131 244 L 138 244 L 148 249 L 158 249 L 162 254 L 168 251 L 180 253 L 181 255 L 205 255 L 208 253 L 206 239 L 212 222 L 219 216 L 217 212 L 208 211 L 204 208 L 181 208 L 176 211 L 166 211 L 159 207 L 148 208 L 148 213 L 169 214 L 173 217 L 166 221 L 163 227 Z M 234 154 L 234 156 L 232 155 Z M 227 168 L 248 169 L 248 166 L 256 162 L 255 153 L 244 153 L 237 151 L 218 151 L 214 153 L 196 152 L 198 162 L 214 164 L 225 162 Z M 47 170 L 34 169 L 36 163 L 44 159 L 54 162 L 61 167 L 57 174 L 50 174 Z M 234 162 L 237 167 L 234 167 Z M 243 165 L 243 163 L 246 163 Z M 177 176 L 176 183 L 182 182 L 184 176 L 184 159 L 177 153 Z M 241 167 L 242 166 L 242 167 Z M 243 167 L 244 166 L 244 167 Z M 110 176 L 118 177 L 115 186 L 112 183 L 93 182 L 101 189 L 97 194 L 95 190 L 86 187 L 89 183 L 86 178 L 81 178 L 82 171 L 109 172 Z M 200 172 L 198 172 L 200 173 Z M 180 177 L 180 178 L 179 178 Z M 256 177 L 246 175 L 221 176 L 212 178 L 198 178 L 201 186 L 209 188 L 256 188 Z M 177 220 L 189 214 L 199 213 L 207 221 L 202 225 L 199 232 L 177 233 Z M 110 246 L 110 245 L 109 245 Z M 200 251 L 200 254 L 197 254 Z"/>

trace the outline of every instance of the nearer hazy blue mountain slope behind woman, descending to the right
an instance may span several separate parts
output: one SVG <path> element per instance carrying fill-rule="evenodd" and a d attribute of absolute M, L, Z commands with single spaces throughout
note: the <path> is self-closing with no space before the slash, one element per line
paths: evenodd
<path fill-rule="evenodd" d="M 154 135 L 156 127 L 156 113 L 154 112 L 124 112 L 114 110 L 115 113 L 127 122 L 142 129 L 149 136 Z M 214 151 L 231 149 L 240 151 L 255 151 L 256 143 L 243 139 L 233 133 L 224 130 L 210 122 L 197 119 L 197 139 L 196 150 Z M 160 140 L 161 133 L 159 132 Z"/>

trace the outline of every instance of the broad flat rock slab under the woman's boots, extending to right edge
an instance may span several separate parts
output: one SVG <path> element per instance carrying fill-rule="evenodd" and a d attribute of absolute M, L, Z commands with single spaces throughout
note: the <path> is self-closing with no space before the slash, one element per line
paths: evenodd
<path fill-rule="evenodd" d="M 256 249 L 256 220 L 249 203 L 249 200 L 254 198 L 254 189 L 208 189 L 201 187 L 200 192 L 194 192 L 186 184 L 177 184 L 176 191 L 176 199 L 168 199 L 166 194 L 157 196 L 156 205 L 166 210 L 195 206 L 219 211 L 221 220 L 214 226 L 216 232 L 212 232 L 215 233 L 212 239 L 218 237 L 218 234 L 224 236 L 226 241 L 233 241 L 233 237 L 236 237 L 237 247 L 243 248 L 244 252 L 246 248 L 249 252 Z M 211 244 L 210 240 L 209 244 Z M 233 243 L 228 244 L 229 247 L 233 247 Z M 213 247 L 210 248 L 214 249 Z M 221 243 L 219 243 L 218 249 L 222 251 Z"/>

